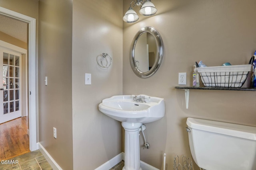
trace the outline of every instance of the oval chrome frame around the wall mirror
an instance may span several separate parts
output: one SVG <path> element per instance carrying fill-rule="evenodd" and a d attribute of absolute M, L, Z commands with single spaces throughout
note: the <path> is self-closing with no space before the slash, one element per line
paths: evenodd
<path fill-rule="evenodd" d="M 135 53 L 135 46 L 136 46 L 136 42 L 138 41 L 138 38 L 140 37 L 140 35 L 142 35 L 143 33 L 146 33 L 146 32 L 151 33 L 156 41 L 156 48 L 157 48 L 156 60 L 150 70 L 148 70 L 147 72 L 141 72 L 136 65 L 134 53 Z M 134 73 L 137 76 L 139 76 L 140 78 L 149 78 L 150 76 L 155 74 L 162 62 L 163 51 L 164 50 L 163 50 L 162 38 L 161 38 L 160 34 L 158 33 L 158 31 L 154 27 L 147 26 L 147 27 L 143 27 L 142 29 L 140 29 L 134 36 L 134 39 L 132 40 L 132 46 L 131 46 L 131 50 L 130 50 L 130 63 L 131 63 L 132 70 L 134 71 Z"/>

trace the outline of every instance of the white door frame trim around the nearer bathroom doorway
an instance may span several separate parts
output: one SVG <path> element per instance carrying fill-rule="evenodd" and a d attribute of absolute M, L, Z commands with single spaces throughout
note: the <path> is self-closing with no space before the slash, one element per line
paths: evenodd
<path fill-rule="evenodd" d="M 36 115 L 38 113 L 38 84 L 36 75 L 36 19 L 25 16 L 18 12 L 8 10 L 0 7 L 0 14 L 9 18 L 28 23 L 28 115 L 29 115 L 29 144 L 30 151 L 38 149 L 36 143 L 37 121 Z"/>

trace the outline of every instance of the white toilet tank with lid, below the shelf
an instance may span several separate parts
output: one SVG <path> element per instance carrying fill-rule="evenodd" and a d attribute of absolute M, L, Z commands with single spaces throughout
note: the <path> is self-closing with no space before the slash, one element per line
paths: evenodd
<path fill-rule="evenodd" d="M 186 124 L 190 151 L 200 168 L 256 170 L 256 127 L 190 117 Z"/>

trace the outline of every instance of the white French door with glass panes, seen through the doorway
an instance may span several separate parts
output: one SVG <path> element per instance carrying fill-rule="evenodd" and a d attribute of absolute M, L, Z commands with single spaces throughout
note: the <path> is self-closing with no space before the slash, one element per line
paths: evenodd
<path fill-rule="evenodd" d="M 0 47 L 0 123 L 21 117 L 21 57 Z"/>

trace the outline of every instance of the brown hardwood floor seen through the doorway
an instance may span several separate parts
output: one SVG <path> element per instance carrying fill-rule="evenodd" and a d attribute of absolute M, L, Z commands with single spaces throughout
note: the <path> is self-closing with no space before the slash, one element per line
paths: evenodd
<path fill-rule="evenodd" d="M 6 160 L 29 151 L 28 117 L 0 124 L 0 160 Z"/>

